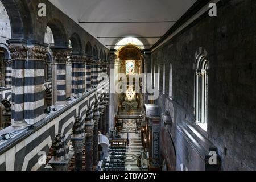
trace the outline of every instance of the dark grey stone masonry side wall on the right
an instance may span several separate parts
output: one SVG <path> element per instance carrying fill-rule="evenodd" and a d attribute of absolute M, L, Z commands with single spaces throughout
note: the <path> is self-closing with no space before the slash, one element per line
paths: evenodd
<path fill-rule="evenodd" d="M 153 71 L 156 65 L 158 72 L 160 64 L 161 93 L 166 65 L 167 94 L 156 102 L 174 118 L 172 127 L 162 123 L 161 146 L 171 148 L 171 135 L 177 153 L 175 164 L 167 157 L 172 151 L 167 154 L 162 148 L 169 168 L 176 165 L 180 170 L 182 165 L 183 169 L 204 170 L 204 157 L 213 146 L 221 155 L 222 169 L 256 169 L 256 1 L 223 2 L 217 18 L 205 14 L 151 55 Z M 207 132 L 196 126 L 193 114 L 193 63 L 200 49 L 210 61 Z M 170 63 L 172 100 L 168 97 Z"/>

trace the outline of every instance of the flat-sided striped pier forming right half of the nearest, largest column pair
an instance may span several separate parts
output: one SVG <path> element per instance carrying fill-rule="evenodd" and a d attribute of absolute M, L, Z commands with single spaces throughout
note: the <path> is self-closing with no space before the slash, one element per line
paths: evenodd
<path fill-rule="evenodd" d="M 24 109 L 25 119 L 30 125 L 44 119 L 44 66 L 47 46 L 27 46 L 25 62 Z"/>

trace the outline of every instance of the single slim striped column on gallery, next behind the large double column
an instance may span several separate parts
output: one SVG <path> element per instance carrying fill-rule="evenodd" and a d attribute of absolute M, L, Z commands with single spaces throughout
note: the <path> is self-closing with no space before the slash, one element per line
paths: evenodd
<path fill-rule="evenodd" d="M 56 106 L 65 106 L 67 102 L 66 94 L 66 63 L 68 56 L 70 55 L 70 48 L 55 48 L 51 47 L 53 51 L 54 60 L 56 63 L 56 88 L 57 88 L 57 100 Z"/>

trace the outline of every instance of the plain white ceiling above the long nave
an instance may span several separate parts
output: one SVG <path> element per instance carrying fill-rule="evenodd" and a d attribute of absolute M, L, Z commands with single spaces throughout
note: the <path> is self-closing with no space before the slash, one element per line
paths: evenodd
<path fill-rule="evenodd" d="M 79 23 L 176 21 L 196 0 L 49 0 L 95 38 L 105 36 L 163 36 L 174 23 Z M 114 45 L 119 39 L 98 39 Z M 155 44 L 159 38 L 141 39 Z M 106 46 L 109 49 L 114 46 Z M 151 46 L 145 46 L 150 48 Z"/>

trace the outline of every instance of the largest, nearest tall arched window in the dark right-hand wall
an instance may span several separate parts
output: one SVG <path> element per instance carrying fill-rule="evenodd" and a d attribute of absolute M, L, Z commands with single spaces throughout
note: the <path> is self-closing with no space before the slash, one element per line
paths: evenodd
<path fill-rule="evenodd" d="M 204 55 L 197 56 L 195 69 L 195 119 L 207 131 L 209 63 Z"/>

